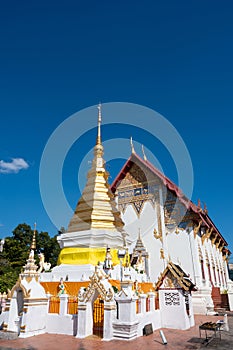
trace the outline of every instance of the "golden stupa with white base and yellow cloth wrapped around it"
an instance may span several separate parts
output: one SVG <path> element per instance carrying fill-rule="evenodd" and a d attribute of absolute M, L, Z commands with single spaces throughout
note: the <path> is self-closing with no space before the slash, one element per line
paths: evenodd
<path fill-rule="evenodd" d="M 62 248 L 59 264 L 96 265 L 104 261 L 107 246 L 111 248 L 113 263 L 117 264 L 117 251 L 125 246 L 124 223 L 108 183 L 109 173 L 103 159 L 101 121 L 99 105 L 92 166 L 68 229 L 59 239 Z"/>

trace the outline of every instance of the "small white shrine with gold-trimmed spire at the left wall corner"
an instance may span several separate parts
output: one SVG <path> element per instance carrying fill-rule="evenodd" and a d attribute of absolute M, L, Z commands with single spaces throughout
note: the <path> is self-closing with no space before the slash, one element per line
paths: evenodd
<path fill-rule="evenodd" d="M 3 313 L 3 330 L 15 332 L 22 338 L 46 332 L 48 298 L 39 282 L 40 273 L 34 259 L 35 233 L 36 227 L 27 263 L 12 290 L 8 291 Z"/>

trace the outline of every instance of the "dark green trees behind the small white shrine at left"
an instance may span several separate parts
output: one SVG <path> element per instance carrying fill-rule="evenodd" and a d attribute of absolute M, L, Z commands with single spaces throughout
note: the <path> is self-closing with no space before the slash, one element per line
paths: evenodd
<path fill-rule="evenodd" d="M 19 273 L 29 256 L 33 230 L 27 224 L 18 225 L 11 237 L 5 238 L 3 252 L 0 253 L 0 292 L 6 292 L 16 283 Z M 38 254 L 44 253 L 45 261 L 51 266 L 57 263 L 60 252 L 57 236 L 50 237 L 48 232 L 36 231 L 35 259 L 38 264 Z"/>

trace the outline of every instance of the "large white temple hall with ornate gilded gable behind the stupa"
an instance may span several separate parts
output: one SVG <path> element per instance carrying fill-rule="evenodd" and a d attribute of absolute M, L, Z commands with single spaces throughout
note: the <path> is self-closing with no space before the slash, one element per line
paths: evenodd
<path fill-rule="evenodd" d="M 178 264 L 197 287 L 196 313 L 214 311 L 220 294 L 228 289 L 227 242 L 200 202 L 191 202 L 147 158 L 135 153 L 111 186 L 125 230 L 133 243 L 141 230 L 149 255 L 150 281 L 156 282 L 169 261 Z M 216 303 L 215 303 L 216 301 Z"/>

